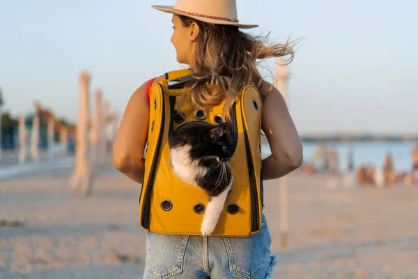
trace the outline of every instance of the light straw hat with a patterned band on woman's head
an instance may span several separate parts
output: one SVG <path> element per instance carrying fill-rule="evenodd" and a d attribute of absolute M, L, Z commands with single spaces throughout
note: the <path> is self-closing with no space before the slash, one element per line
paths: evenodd
<path fill-rule="evenodd" d="M 235 0 L 177 0 L 174 6 L 151 6 L 164 13 L 185 15 L 201 22 L 234 25 L 242 29 L 258 27 L 254 24 L 239 24 Z"/>

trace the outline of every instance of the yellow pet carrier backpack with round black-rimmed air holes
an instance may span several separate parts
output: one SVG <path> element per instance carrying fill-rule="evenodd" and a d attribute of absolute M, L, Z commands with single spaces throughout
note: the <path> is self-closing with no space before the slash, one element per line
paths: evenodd
<path fill-rule="evenodd" d="M 170 163 L 169 133 L 191 121 L 224 122 L 224 102 L 212 109 L 196 111 L 176 101 L 183 86 L 193 79 L 190 70 L 166 73 L 164 80 L 150 89 L 150 118 L 146 147 L 144 182 L 139 198 L 139 223 L 161 234 L 201 235 L 202 209 L 208 195 L 174 174 Z M 245 86 L 233 107 L 235 152 L 229 162 L 233 186 L 211 236 L 251 236 L 261 229 L 263 181 L 261 179 L 261 96 L 256 86 Z"/>

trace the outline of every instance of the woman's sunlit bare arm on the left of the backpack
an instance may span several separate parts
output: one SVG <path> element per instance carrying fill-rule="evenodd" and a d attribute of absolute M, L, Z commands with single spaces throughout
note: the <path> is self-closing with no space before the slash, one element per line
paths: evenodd
<path fill-rule="evenodd" d="M 164 75 L 153 83 L 160 82 Z M 130 179 L 142 183 L 144 149 L 148 138 L 150 106 L 146 98 L 146 83 L 135 91 L 127 103 L 113 149 L 113 164 Z"/>

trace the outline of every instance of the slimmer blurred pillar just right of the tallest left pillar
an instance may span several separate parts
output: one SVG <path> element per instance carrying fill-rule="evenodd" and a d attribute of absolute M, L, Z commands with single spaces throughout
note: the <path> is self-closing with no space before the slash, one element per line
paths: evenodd
<path fill-rule="evenodd" d="M 94 175 L 98 174 L 99 167 L 99 143 L 101 127 L 102 91 L 97 89 L 94 93 L 94 113 L 91 123 L 91 168 Z"/>

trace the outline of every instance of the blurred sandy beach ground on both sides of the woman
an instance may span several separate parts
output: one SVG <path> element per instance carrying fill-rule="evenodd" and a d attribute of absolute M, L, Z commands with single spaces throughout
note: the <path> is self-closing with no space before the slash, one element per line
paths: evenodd
<path fill-rule="evenodd" d="M 69 174 L 0 181 L 0 278 L 142 278 L 140 186 L 109 166 L 82 198 L 70 193 Z M 418 187 L 328 182 L 288 176 L 290 237 L 281 248 L 278 181 L 266 181 L 274 278 L 418 278 Z"/>

